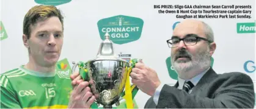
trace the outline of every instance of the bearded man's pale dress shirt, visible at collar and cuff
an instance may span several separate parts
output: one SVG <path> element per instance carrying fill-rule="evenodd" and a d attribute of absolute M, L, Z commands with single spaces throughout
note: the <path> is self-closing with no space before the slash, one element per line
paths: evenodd
<path fill-rule="evenodd" d="M 201 72 L 199 75 L 197 75 L 196 77 L 193 77 L 192 79 L 181 79 L 180 77 L 178 77 L 178 89 L 182 90 L 183 85 L 186 81 L 191 81 L 193 83 L 194 86 L 197 85 L 197 83 L 199 82 L 199 80 L 203 77 L 203 75 L 209 70 L 210 68 L 208 68 L 206 71 Z M 158 88 L 156 89 L 156 92 L 153 96 L 153 100 L 155 102 L 155 104 L 158 104 L 158 99 L 159 99 L 159 95 L 160 95 L 160 91 L 162 90 L 164 86 L 164 83 L 161 83 L 161 85 L 158 86 Z M 191 91 L 193 90 L 193 88 L 191 90 L 189 90 L 189 93 L 191 93 Z"/>

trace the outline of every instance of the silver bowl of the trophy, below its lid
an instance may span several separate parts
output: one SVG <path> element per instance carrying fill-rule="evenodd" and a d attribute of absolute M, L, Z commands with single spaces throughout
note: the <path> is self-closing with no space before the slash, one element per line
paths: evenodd
<path fill-rule="evenodd" d="M 95 59 L 87 62 L 89 73 L 88 82 L 92 93 L 96 95 L 97 103 L 109 108 L 117 103 L 119 105 L 120 95 L 125 88 L 128 62 L 114 59 Z"/>

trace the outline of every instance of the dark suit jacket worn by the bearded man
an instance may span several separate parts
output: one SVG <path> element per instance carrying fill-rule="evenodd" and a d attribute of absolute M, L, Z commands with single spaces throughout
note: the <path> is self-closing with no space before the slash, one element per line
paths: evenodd
<path fill-rule="evenodd" d="M 153 97 L 144 108 L 254 108 L 255 93 L 251 77 L 241 72 L 216 74 L 212 68 L 199 80 L 191 94 L 164 85 L 158 105 Z"/>

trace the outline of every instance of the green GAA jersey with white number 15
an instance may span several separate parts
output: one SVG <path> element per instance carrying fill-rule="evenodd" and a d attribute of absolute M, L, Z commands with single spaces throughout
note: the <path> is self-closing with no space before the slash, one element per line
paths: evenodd
<path fill-rule="evenodd" d="M 1 74 L 1 108 L 67 108 L 71 91 L 70 77 L 60 72 L 21 66 Z"/>

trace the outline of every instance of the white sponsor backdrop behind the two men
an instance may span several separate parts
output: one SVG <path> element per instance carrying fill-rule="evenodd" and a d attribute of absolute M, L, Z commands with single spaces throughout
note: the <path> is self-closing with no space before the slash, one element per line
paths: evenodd
<path fill-rule="evenodd" d="M 64 1 L 64 0 L 62 0 Z M 7 38 L 1 40 L 1 73 L 17 68 L 28 61 L 27 49 L 23 46 L 23 18 L 26 12 L 38 5 L 29 0 L 1 0 L 1 21 L 7 33 Z M 166 40 L 172 35 L 172 26 L 183 19 L 176 14 L 158 13 L 153 5 L 251 5 L 251 19 L 201 19 L 208 23 L 214 32 L 217 44 L 214 52 L 213 69 L 218 73 L 238 71 L 251 76 L 255 81 L 255 30 L 254 33 L 237 33 L 237 23 L 254 23 L 255 1 L 84 1 L 72 0 L 67 4 L 57 5 L 64 13 L 64 46 L 60 60 L 67 58 L 71 65 L 73 61 L 87 61 L 94 58 L 101 43 L 98 30 L 100 19 L 123 15 L 143 20 L 142 33 L 136 41 L 125 44 L 114 44 L 115 53 L 131 54 L 131 58 L 142 58 L 147 66 L 155 69 L 161 82 L 174 84 L 167 70 L 166 58 L 170 56 L 170 48 Z M 167 10 L 167 9 L 162 9 Z M 174 9 L 168 9 L 174 10 Z M 177 9 L 175 9 L 177 10 Z M 197 9 L 199 10 L 199 9 Z M 200 9 L 202 10 L 202 9 Z M 211 9 L 208 9 L 211 10 Z M 221 9 L 225 10 L 225 9 Z M 229 10 L 229 9 L 226 9 Z M 234 10 L 234 9 L 232 9 Z M 205 15 L 205 14 L 203 14 Z M 213 15 L 213 14 L 210 14 Z M 240 15 L 244 15 L 240 13 Z M 249 14 L 247 14 L 249 15 Z M 115 20 L 112 20 L 115 21 Z M 124 21 L 126 19 L 124 18 Z M 132 22 L 133 20 L 130 20 Z M 1 26 L 1 28 L 3 28 Z M 141 29 L 141 28 L 140 28 Z M 1 32 L 2 33 L 2 32 Z M 130 36 L 132 37 L 132 36 Z M 124 38 L 115 40 L 122 40 Z M 139 91 L 135 97 L 139 108 L 143 108 L 150 96 Z"/>

